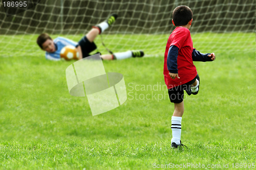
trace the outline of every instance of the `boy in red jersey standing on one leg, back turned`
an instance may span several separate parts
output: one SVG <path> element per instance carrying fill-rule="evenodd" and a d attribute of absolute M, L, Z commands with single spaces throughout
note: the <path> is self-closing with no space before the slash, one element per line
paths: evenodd
<path fill-rule="evenodd" d="M 181 119 L 184 113 L 184 90 L 188 95 L 196 95 L 200 78 L 193 61 L 214 61 L 215 54 L 202 54 L 193 48 L 189 28 L 193 12 L 187 6 L 178 6 L 173 11 L 173 24 L 176 29 L 170 34 L 164 54 L 164 81 L 168 88 L 170 102 L 174 103 L 172 116 L 172 147 L 181 144 Z"/>

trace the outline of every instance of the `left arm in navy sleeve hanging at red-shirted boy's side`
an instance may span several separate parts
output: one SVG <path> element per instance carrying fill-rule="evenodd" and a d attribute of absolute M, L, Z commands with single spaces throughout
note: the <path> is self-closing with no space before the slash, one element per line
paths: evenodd
<path fill-rule="evenodd" d="M 178 76 L 178 65 L 177 65 L 177 57 L 178 57 L 179 48 L 175 45 L 169 47 L 168 55 L 167 55 L 167 69 L 169 71 L 169 76 L 172 79 Z"/>

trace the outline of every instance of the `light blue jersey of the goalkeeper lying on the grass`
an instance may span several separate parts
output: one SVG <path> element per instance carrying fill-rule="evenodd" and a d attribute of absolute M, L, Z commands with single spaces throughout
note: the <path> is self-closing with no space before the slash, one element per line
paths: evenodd
<path fill-rule="evenodd" d="M 67 38 L 63 38 L 63 37 L 57 37 L 53 40 L 54 44 L 55 44 L 55 48 L 56 48 L 56 52 L 54 53 L 48 53 L 46 52 L 46 59 L 47 60 L 60 60 L 60 51 L 63 47 L 67 46 L 67 45 L 73 45 L 73 46 L 77 46 L 78 43 L 75 41 L 72 41 L 70 39 Z"/>

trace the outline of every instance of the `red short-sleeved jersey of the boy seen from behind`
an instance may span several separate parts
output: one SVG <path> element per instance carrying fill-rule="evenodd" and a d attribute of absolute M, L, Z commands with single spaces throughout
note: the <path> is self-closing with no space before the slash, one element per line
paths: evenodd
<path fill-rule="evenodd" d="M 180 79 L 175 78 L 174 80 L 170 78 L 169 71 L 167 69 L 167 55 L 169 47 L 172 45 L 179 48 L 177 65 Z M 177 27 L 172 34 L 170 34 L 167 40 L 164 54 L 163 74 L 164 81 L 168 89 L 185 84 L 197 76 L 197 68 L 193 63 L 192 52 L 193 42 L 190 31 L 184 27 Z"/>

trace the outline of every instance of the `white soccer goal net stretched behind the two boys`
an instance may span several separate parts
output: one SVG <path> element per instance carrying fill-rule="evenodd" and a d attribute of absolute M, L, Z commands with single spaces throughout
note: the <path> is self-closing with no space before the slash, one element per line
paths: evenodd
<path fill-rule="evenodd" d="M 194 13 L 190 28 L 194 47 L 200 52 L 253 52 L 255 1 L 252 0 L 45 0 L 23 13 L 7 17 L 0 3 L 0 54 L 41 53 L 36 42 L 40 33 L 78 41 L 92 26 L 111 13 L 118 19 L 102 34 L 113 52 L 143 50 L 145 56 L 163 56 L 172 24 L 172 11 L 186 5 Z M 108 53 L 95 40 L 101 53 Z M 43 54 L 43 53 L 42 53 Z"/>

